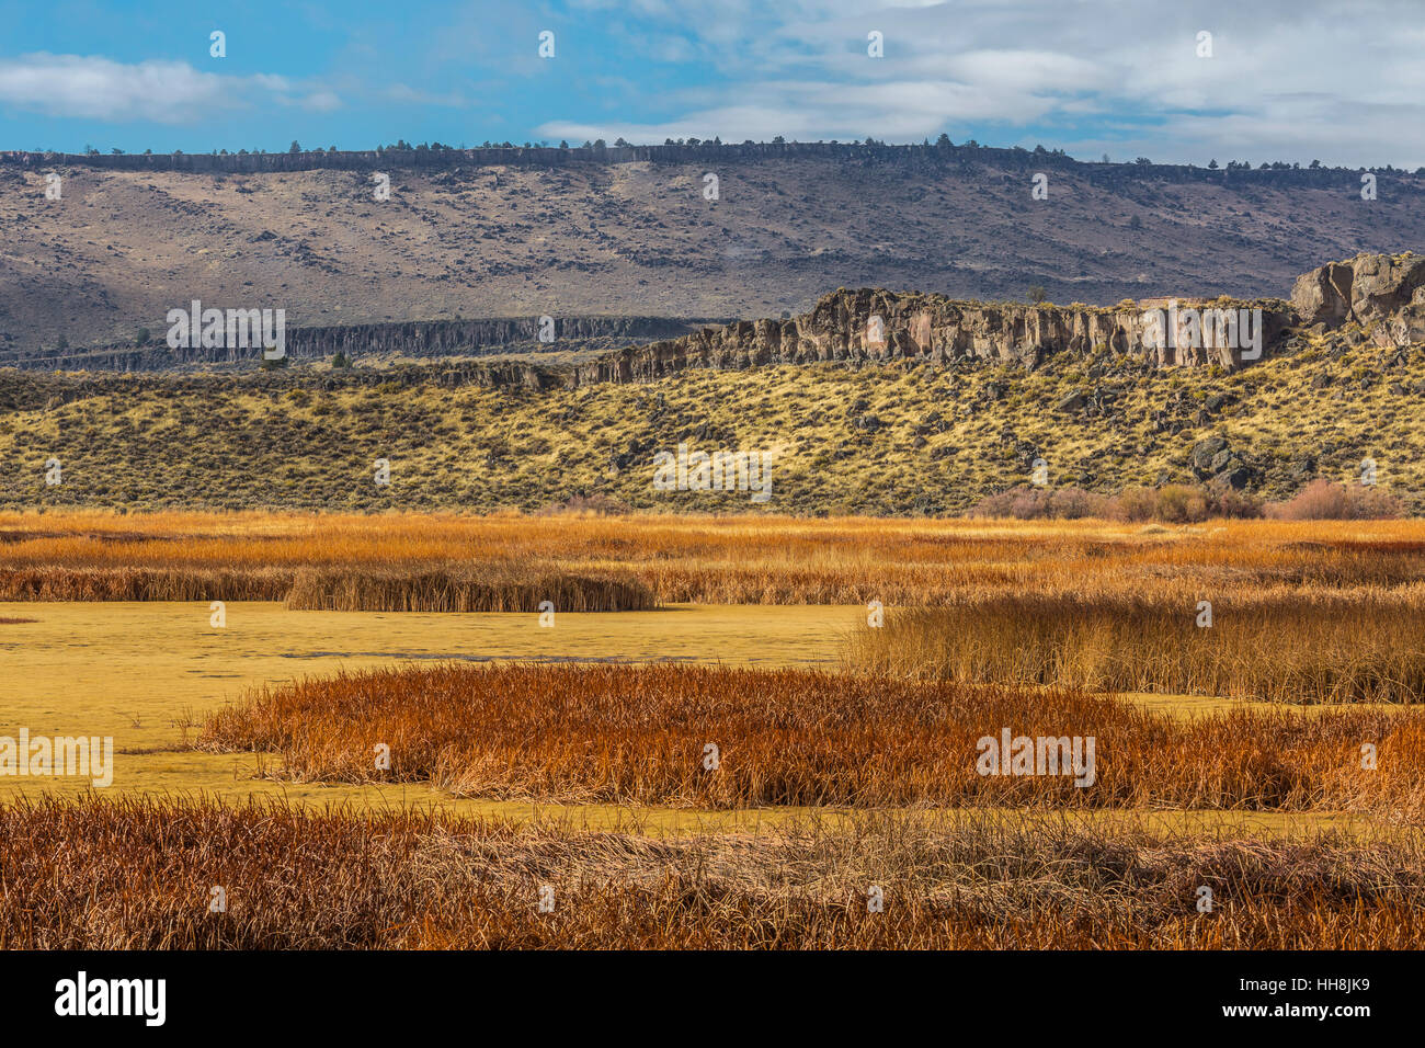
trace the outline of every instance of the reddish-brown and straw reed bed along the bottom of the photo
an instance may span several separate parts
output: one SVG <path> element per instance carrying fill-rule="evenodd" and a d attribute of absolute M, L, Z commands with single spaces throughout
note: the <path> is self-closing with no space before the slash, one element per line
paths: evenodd
<path fill-rule="evenodd" d="M 1258 841 L 958 813 L 650 838 L 258 801 L 0 807 L 10 950 L 1421 947 L 1414 833 Z"/>

